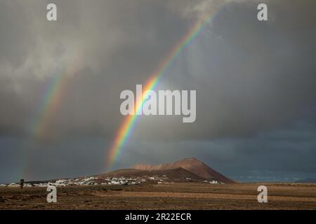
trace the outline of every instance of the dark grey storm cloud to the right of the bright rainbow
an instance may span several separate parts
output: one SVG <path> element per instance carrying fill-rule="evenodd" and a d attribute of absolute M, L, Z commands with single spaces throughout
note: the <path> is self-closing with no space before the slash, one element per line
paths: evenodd
<path fill-rule="evenodd" d="M 169 120 L 168 128 L 165 118 L 161 128 L 152 121 L 153 138 L 247 137 L 297 120 L 315 124 L 315 2 L 268 5 L 270 20 L 258 22 L 255 2 L 228 4 L 183 53 L 166 82 L 197 90 L 197 120 Z"/>

